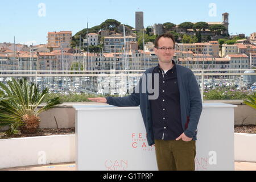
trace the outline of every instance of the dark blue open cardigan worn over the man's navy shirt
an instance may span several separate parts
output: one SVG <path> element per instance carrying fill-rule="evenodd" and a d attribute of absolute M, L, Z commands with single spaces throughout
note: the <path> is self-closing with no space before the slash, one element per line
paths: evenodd
<path fill-rule="evenodd" d="M 153 68 L 147 69 L 143 76 L 147 79 L 147 73 L 152 73 Z M 180 91 L 180 110 L 181 122 L 184 134 L 196 140 L 197 124 L 200 119 L 202 111 L 202 101 L 199 85 L 193 72 L 181 65 L 176 64 L 177 81 Z M 154 134 L 152 131 L 152 120 L 150 101 L 148 100 L 148 93 L 144 93 L 141 88 L 142 78 L 139 80 L 137 86 L 140 87 L 139 93 L 131 93 L 126 97 L 106 97 L 107 103 L 114 106 L 140 106 L 142 118 L 147 132 L 147 142 L 151 146 L 155 143 Z"/>

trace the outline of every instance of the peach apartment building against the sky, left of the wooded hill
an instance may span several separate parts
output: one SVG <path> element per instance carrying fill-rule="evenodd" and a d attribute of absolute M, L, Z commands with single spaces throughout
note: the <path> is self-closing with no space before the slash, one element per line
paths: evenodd
<path fill-rule="evenodd" d="M 71 44 L 72 39 L 72 31 L 60 31 L 60 32 L 48 32 L 47 36 L 47 46 L 52 48 L 59 48 L 61 45 L 65 45 L 64 47 L 67 47 L 67 45 Z"/>

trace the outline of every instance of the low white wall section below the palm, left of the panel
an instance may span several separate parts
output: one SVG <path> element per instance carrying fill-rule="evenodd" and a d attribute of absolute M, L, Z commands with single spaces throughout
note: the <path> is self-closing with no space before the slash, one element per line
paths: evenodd
<path fill-rule="evenodd" d="M 75 161 L 75 135 L 0 140 L 0 168 Z"/>

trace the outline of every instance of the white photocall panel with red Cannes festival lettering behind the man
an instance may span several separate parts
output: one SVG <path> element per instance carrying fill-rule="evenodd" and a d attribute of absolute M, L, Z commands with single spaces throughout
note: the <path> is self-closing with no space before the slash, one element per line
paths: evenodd
<path fill-rule="evenodd" d="M 77 170 L 158 170 L 139 107 L 74 105 Z M 203 104 L 196 170 L 234 170 L 234 107 Z"/>

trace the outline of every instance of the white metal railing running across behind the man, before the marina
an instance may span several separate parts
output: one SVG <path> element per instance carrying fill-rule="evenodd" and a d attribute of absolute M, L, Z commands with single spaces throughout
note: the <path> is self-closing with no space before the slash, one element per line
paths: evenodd
<path fill-rule="evenodd" d="M 254 73 L 243 73 L 245 71 L 254 71 Z M 201 83 L 201 97 L 204 96 L 205 76 L 241 76 L 249 75 L 256 77 L 256 69 L 192 69 L 197 80 Z M 0 78 L 4 77 L 140 77 L 144 70 L 104 70 L 104 71 L 0 71 Z M 225 73 L 224 73 L 225 72 Z M 201 79 L 200 79 L 201 78 Z M 36 82 L 37 84 L 37 82 Z M 122 94 L 121 94 L 122 95 Z"/>

